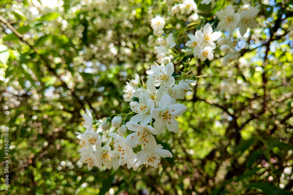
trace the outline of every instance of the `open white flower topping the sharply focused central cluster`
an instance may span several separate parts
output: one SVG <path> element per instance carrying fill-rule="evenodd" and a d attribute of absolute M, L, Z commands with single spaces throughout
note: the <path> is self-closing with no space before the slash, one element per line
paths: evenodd
<path fill-rule="evenodd" d="M 168 63 L 165 68 L 153 65 L 151 69 L 152 73 L 148 76 L 147 83 L 153 84 L 155 87 L 160 86 L 158 92 L 163 92 L 166 87 L 171 87 L 175 83 L 175 79 L 172 77 L 173 63 Z"/>

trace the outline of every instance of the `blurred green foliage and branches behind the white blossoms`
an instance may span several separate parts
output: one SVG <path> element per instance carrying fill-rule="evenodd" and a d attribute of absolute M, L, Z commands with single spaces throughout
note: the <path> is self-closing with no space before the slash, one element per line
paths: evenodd
<path fill-rule="evenodd" d="M 236 39 L 241 58 L 228 66 L 220 52 L 208 64 L 187 62 L 197 84 L 180 102 L 188 107 L 180 132 L 156 136 L 173 158 L 136 172 L 79 162 L 85 108 L 103 120 L 121 113 L 125 82 L 135 73 L 146 81 L 151 18 L 178 32 L 179 73 L 188 33 L 219 22 L 214 13 L 227 3 L 201 4 L 200 25 L 186 29 L 188 15 L 171 15 L 172 0 L 1 0 L 0 194 L 292 194 L 292 1 L 251 1 L 259 27 Z"/>

